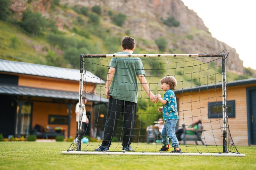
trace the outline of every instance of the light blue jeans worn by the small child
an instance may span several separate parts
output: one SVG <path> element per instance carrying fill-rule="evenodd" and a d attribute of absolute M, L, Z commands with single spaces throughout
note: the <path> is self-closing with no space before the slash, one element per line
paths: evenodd
<path fill-rule="evenodd" d="M 178 148 L 179 142 L 176 138 L 175 134 L 175 126 L 177 124 L 177 119 L 167 119 L 164 123 L 164 128 L 162 130 L 161 136 L 163 137 L 162 143 L 163 145 L 168 145 L 169 140 L 172 141 L 172 147 Z"/>

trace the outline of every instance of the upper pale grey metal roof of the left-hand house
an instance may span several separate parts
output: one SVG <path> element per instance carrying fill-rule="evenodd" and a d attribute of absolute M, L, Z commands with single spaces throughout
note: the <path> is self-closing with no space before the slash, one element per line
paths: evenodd
<path fill-rule="evenodd" d="M 80 80 L 80 70 L 8 60 L 0 60 L 0 72 L 35 75 L 65 80 Z M 103 80 L 89 71 L 86 71 L 86 77 L 84 77 L 84 80 L 88 83 L 105 84 Z"/>

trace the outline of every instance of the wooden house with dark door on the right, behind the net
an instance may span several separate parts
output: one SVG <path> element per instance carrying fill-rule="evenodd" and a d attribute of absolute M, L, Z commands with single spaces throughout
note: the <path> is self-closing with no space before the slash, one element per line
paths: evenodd
<path fill-rule="evenodd" d="M 179 121 L 190 125 L 202 121 L 207 145 L 222 145 L 222 83 L 175 90 Z M 256 79 L 227 83 L 227 113 L 235 145 L 256 145 Z"/>

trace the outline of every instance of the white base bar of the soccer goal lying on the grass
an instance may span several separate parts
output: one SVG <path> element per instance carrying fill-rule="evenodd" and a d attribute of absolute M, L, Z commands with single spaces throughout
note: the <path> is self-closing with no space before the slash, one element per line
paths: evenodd
<path fill-rule="evenodd" d="M 91 152 L 91 151 L 62 151 L 62 154 L 78 155 L 161 155 L 161 156 L 236 156 L 245 157 L 238 153 L 171 153 L 171 152 Z"/>

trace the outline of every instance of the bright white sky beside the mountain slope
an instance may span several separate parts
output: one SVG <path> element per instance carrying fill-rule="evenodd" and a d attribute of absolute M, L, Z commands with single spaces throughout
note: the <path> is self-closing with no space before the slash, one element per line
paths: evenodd
<path fill-rule="evenodd" d="M 244 67 L 256 69 L 256 1 L 182 0 L 212 36 L 235 48 Z"/>

